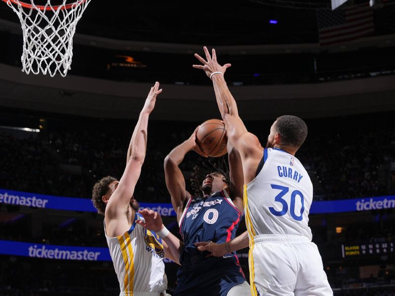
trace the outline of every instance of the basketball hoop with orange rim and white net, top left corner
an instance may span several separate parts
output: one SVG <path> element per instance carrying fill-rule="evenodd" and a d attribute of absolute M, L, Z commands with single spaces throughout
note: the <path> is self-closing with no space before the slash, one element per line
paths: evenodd
<path fill-rule="evenodd" d="M 73 57 L 73 36 L 76 26 L 90 0 L 59 5 L 36 5 L 19 0 L 2 0 L 18 15 L 23 31 L 22 72 L 63 77 L 70 70 Z M 52 0 L 53 2 L 53 0 Z"/>

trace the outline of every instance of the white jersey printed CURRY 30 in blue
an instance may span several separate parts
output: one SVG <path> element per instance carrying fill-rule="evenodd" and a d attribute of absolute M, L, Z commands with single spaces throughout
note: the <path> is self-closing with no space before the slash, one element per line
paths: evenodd
<path fill-rule="evenodd" d="M 278 148 L 265 148 L 264 165 L 244 185 L 244 209 L 250 239 L 262 234 L 303 235 L 308 225 L 313 184 L 300 161 Z"/>

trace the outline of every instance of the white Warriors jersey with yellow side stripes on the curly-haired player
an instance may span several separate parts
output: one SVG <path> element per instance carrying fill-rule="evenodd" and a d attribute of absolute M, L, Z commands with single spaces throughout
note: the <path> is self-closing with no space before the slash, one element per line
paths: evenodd
<path fill-rule="evenodd" d="M 118 237 L 108 237 L 104 225 L 110 255 L 118 276 L 120 295 L 138 295 L 136 292 L 157 293 L 144 295 L 166 295 L 163 242 L 158 234 L 137 224 L 137 219 L 144 220 L 136 213 L 130 229 Z"/>

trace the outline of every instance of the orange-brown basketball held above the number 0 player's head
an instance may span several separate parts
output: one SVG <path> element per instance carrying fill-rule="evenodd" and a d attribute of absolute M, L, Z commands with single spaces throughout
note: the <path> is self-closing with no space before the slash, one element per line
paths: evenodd
<path fill-rule="evenodd" d="M 204 121 L 196 133 L 196 143 L 210 157 L 226 154 L 227 136 L 225 124 L 219 119 Z"/>

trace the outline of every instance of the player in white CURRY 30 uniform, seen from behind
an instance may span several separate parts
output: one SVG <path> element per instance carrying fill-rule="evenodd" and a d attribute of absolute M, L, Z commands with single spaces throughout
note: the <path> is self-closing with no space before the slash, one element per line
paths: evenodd
<path fill-rule="evenodd" d="M 213 80 L 228 137 L 241 155 L 247 231 L 222 245 L 198 243 L 198 249 L 222 256 L 249 245 L 252 295 L 333 295 L 308 226 L 313 185 L 295 157 L 307 136 L 306 123 L 296 116 L 278 117 L 270 129 L 267 148 L 262 148 L 238 116 L 224 79 L 231 65 L 219 65 L 214 49 L 212 56 L 206 47 L 204 52 L 206 60 L 195 54 L 203 65 L 193 67 L 204 70 Z"/>

